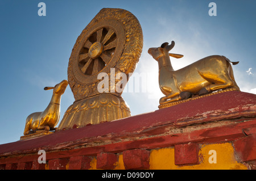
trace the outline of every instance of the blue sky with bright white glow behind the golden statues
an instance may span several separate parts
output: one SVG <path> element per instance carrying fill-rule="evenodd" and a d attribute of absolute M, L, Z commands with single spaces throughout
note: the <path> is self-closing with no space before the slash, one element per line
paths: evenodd
<path fill-rule="evenodd" d="M 46 3 L 46 16 L 38 16 L 38 3 Z M 209 16 L 210 2 L 217 16 Z M 18 141 L 32 112 L 43 111 L 54 86 L 67 79 L 73 45 L 86 25 L 104 7 L 121 8 L 137 16 L 143 31 L 143 51 L 136 73 L 148 73 L 146 92 L 124 92 L 131 114 L 158 110 L 163 94 L 158 87 L 158 64 L 147 53 L 172 40 L 174 69 L 213 54 L 232 61 L 234 76 L 245 92 L 256 94 L 256 1 L 0 1 L 0 144 Z M 250 69 L 250 71 L 248 71 Z M 73 103 L 69 87 L 61 97 L 61 116 Z M 59 123 L 60 123 L 59 121 Z"/>

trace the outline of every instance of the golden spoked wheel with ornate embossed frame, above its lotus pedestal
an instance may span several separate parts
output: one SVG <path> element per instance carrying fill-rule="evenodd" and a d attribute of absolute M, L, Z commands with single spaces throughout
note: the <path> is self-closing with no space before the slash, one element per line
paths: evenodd
<path fill-rule="evenodd" d="M 68 81 L 76 100 L 98 94 L 98 74 L 132 73 L 141 56 L 143 35 L 137 18 L 122 9 L 102 9 L 73 47 Z M 116 95 L 121 95 L 114 92 Z"/>

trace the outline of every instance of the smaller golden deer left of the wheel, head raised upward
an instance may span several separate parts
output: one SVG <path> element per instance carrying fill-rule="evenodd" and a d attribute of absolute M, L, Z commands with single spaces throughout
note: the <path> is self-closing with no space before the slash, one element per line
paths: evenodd
<path fill-rule="evenodd" d="M 35 133 L 38 130 L 55 130 L 60 119 L 60 98 L 68 86 L 68 81 L 64 80 L 55 87 L 44 87 L 44 90 L 53 89 L 53 94 L 49 105 L 43 112 L 31 113 L 26 119 L 24 135 Z M 31 131 L 32 129 L 32 131 Z"/>

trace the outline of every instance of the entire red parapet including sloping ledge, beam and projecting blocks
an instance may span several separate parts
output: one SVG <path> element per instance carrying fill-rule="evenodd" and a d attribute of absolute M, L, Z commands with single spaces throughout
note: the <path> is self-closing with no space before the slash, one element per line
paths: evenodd
<path fill-rule="evenodd" d="M 96 156 L 97 167 L 106 168 L 108 159 L 102 153 L 123 153 L 127 169 L 147 168 L 139 161 L 129 163 L 126 155 L 131 150 L 147 152 L 170 146 L 175 146 L 177 165 L 195 164 L 195 145 L 226 141 L 233 142 L 241 162 L 253 162 L 255 117 L 256 95 L 225 92 L 143 115 L 0 145 L 0 169 L 25 169 L 26 162 L 32 163 L 31 169 L 44 169 L 45 165 L 37 164 L 41 149 L 47 151 L 49 169 L 66 169 L 67 164 L 69 169 L 88 169 L 88 162 Z"/>

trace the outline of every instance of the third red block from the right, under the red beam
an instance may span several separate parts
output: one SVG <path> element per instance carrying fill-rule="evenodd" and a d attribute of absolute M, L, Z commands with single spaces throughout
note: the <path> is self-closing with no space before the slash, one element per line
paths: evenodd
<path fill-rule="evenodd" d="M 150 151 L 134 149 L 123 151 L 125 169 L 149 169 Z"/>

